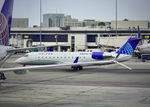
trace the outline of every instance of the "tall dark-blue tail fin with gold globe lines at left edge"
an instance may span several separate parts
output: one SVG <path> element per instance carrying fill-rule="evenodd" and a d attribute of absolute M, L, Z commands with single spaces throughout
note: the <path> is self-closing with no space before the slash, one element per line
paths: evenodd
<path fill-rule="evenodd" d="M 5 0 L 0 12 L 0 45 L 8 46 L 14 0 Z"/>

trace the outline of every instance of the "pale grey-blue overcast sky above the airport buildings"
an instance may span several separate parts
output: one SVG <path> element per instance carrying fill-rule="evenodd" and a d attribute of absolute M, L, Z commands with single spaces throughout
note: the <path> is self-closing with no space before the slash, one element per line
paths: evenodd
<path fill-rule="evenodd" d="M 39 25 L 40 0 L 14 0 L 14 18 Z M 79 20 L 115 20 L 116 0 L 42 0 L 42 14 L 64 13 Z M 150 0 L 118 0 L 118 20 L 150 20 Z"/>

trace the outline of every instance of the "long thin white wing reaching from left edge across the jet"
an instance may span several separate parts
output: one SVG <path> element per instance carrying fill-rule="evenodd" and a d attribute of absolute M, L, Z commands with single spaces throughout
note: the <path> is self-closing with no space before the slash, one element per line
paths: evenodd
<path fill-rule="evenodd" d="M 40 65 L 40 66 L 26 66 L 26 67 L 14 67 L 14 68 L 0 68 L 0 71 L 15 71 L 37 68 L 49 68 L 49 67 L 62 67 L 62 66 L 89 66 L 89 65 L 105 65 L 113 64 L 114 60 L 95 61 L 95 62 L 82 62 L 82 63 L 69 63 L 69 64 L 55 64 L 55 65 Z"/>

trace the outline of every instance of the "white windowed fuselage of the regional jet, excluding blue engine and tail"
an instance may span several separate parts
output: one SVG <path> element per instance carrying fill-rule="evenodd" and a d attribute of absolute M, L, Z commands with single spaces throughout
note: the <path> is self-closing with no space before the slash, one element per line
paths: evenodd
<path fill-rule="evenodd" d="M 78 62 L 93 62 L 100 60 L 108 60 L 116 57 L 116 53 L 104 52 L 103 59 L 93 59 L 92 52 L 31 52 L 16 60 L 17 63 L 23 65 L 46 65 L 46 64 L 68 64 L 74 63 L 77 57 Z M 120 55 L 118 61 L 130 59 L 129 55 Z"/>

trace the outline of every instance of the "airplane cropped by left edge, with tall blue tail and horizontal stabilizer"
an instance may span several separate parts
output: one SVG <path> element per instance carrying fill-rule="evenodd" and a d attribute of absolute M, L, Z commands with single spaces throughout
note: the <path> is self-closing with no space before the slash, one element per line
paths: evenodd
<path fill-rule="evenodd" d="M 14 0 L 1 0 L 0 7 L 0 68 L 2 64 L 15 52 L 20 50 L 29 50 L 35 48 L 44 48 L 49 46 L 28 47 L 28 48 L 12 48 L 9 46 L 11 20 Z M 58 45 L 53 45 L 58 46 Z M 0 72 L 0 80 L 5 79 L 4 73 Z"/>

